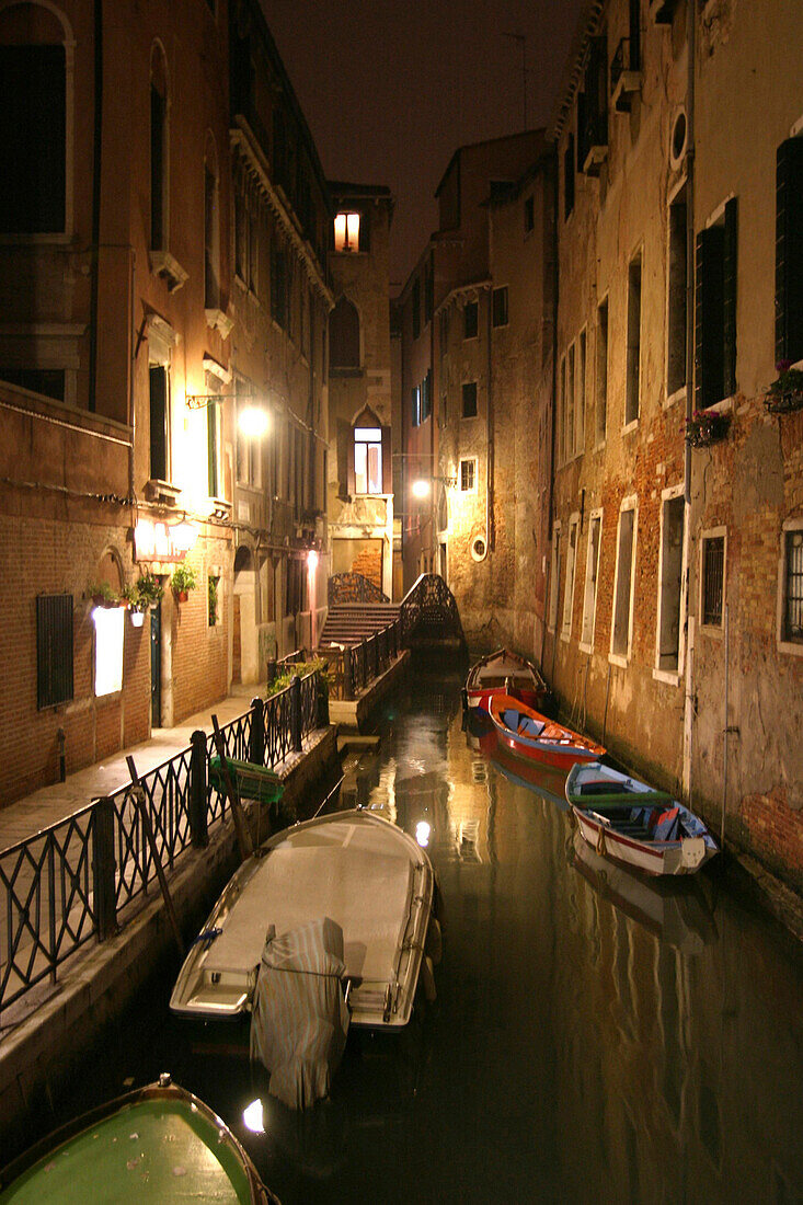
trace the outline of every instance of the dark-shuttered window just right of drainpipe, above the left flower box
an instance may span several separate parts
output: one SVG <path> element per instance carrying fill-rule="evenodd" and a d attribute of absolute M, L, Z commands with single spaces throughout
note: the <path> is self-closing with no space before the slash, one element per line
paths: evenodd
<path fill-rule="evenodd" d="M 697 410 L 735 393 L 737 201 L 697 236 L 696 363 Z"/>

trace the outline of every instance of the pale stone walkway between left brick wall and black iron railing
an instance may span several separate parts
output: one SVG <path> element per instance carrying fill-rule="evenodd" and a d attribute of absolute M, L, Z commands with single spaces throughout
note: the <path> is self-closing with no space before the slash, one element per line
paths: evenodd
<path fill-rule="evenodd" d="M 156 728 L 151 740 L 123 750 L 95 765 L 84 766 L 83 770 L 69 774 L 65 782 L 42 787 L 24 799 L 0 809 L 0 852 L 80 811 L 99 795 L 109 795 L 124 787 L 130 781 L 127 757 L 134 758 L 137 772 L 143 775 L 187 748 L 195 729 L 211 733 L 213 715 L 217 716 L 221 728 L 244 715 L 258 693 L 257 684 L 235 686 L 225 699 L 189 716 L 176 728 Z"/>

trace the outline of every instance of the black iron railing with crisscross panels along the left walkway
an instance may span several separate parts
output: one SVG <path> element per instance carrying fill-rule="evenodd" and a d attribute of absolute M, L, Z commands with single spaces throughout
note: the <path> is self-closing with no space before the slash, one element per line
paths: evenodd
<path fill-rule="evenodd" d="M 294 677 L 268 700 L 221 728 L 228 757 L 276 769 L 328 724 L 320 670 Z M 191 846 L 204 846 L 229 807 L 210 781 L 211 735 L 96 799 L 66 819 L 0 851 L 0 1023 L 2 1011 L 49 980 L 90 939 L 118 930 L 121 912 Z M 147 839 L 148 827 L 153 847 Z"/>

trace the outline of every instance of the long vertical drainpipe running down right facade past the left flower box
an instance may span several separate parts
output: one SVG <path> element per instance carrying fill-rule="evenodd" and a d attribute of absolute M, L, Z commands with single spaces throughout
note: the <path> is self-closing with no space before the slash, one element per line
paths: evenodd
<path fill-rule="evenodd" d="M 686 5 L 686 46 L 687 46 L 687 83 L 686 83 L 686 418 L 694 410 L 694 58 L 697 34 L 697 5 Z M 684 442 L 684 502 L 686 523 L 691 519 L 691 446 Z M 691 549 L 690 533 L 686 535 L 686 547 Z M 690 565 L 686 564 L 686 694 L 684 713 L 684 763 L 682 789 L 686 799 L 691 798 L 692 783 L 692 728 L 694 723 L 694 621 L 690 606 Z"/>

